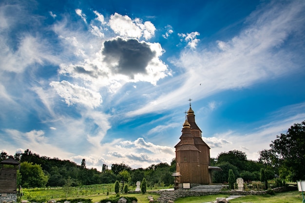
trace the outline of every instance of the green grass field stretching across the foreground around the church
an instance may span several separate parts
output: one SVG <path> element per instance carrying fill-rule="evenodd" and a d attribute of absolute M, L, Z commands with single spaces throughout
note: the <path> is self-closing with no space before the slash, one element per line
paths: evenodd
<path fill-rule="evenodd" d="M 131 190 L 134 190 L 131 189 Z M 107 195 L 107 191 L 108 195 Z M 105 185 L 87 185 L 79 187 L 70 188 L 33 188 L 33 189 L 23 189 L 24 196 L 22 200 L 36 200 L 37 202 L 46 202 L 48 200 L 60 200 L 60 199 L 74 199 L 74 198 L 85 198 L 92 199 L 92 202 L 99 202 L 100 200 L 106 199 L 107 197 L 115 197 L 114 184 Z M 148 203 L 147 197 L 149 190 L 146 194 L 120 194 L 120 196 L 125 197 L 135 197 L 138 203 Z M 158 198 L 158 195 L 152 195 L 154 200 Z M 180 198 L 175 201 L 175 203 L 205 203 L 215 201 L 217 197 L 227 197 L 226 195 L 207 195 L 200 197 L 187 197 Z M 302 202 L 302 193 L 298 191 L 290 191 L 277 193 L 274 196 L 265 195 L 248 195 L 245 197 L 240 197 L 237 199 L 230 200 L 230 203 L 292 203 L 292 202 Z"/>

